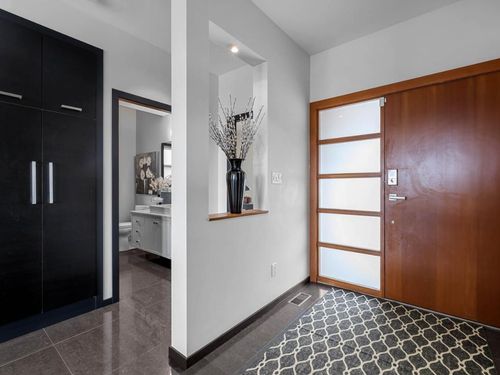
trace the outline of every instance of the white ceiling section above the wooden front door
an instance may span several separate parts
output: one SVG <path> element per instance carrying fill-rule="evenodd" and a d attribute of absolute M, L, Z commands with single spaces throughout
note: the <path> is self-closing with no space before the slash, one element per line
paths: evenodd
<path fill-rule="evenodd" d="M 458 0 L 252 0 L 309 54 Z"/>

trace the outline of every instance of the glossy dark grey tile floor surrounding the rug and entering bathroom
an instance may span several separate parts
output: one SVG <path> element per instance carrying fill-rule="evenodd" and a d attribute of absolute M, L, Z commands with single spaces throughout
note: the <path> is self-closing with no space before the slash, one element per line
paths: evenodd
<path fill-rule="evenodd" d="M 235 374 L 331 288 L 309 284 L 182 374 Z M 138 250 L 120 254 L 117 304 L 0 344 L 0 375 L 176 375 L 168 365 L 170 270 Z M 498 360 L 500 334 L 487 338 Z"/>

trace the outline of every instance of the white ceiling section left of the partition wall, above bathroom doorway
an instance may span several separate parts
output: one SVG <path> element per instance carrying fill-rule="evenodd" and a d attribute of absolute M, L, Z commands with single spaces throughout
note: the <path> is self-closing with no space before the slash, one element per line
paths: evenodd
<path fill-rule="evenodd" d="M 170 52 L 170 0 L 62 0 L 73 8 Z"/>

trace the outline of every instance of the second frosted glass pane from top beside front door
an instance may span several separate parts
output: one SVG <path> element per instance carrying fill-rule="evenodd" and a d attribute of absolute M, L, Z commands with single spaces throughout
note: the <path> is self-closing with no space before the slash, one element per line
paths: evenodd
<path fill-rule="evenodd" d="M 321 174 L 380 172 L 380 138 L 319 147 Z"/>

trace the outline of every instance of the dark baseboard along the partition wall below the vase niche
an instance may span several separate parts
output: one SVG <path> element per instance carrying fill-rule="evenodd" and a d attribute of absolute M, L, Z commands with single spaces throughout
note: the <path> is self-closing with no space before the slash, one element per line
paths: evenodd
<path fill-rule="evenodd" d="M 279 297 L 275 298 L 271 302 L 269 302 L 267 305 L 262 307 L 260 310 L 256 311 L 252 315 L 250 315 L 248 318 L 243 320 L 242 322 L 238 323 L 236 326 L 233 328 L 229 329 L 219 337 L 217 337 L 215 340 L 209 342 L 207 345 L 205 345 L 203 348 L 200 350 L 194 352 L 190 356 L 186 357 L 185 355 L 179 353 L 174 347 L 170 346 L 168 348 L 168 357 L 169 357 L 169 362 L 170 366 L 177 369 L 184 371 L 194 365 L 196 362 L 200 361 L 202 358 L 206 357 L 208 354 L 213 352 L 215 349 L 217 349 L 219 346 L 224 344 L 225 342 L 229 341 L 232 337 L 236 336 L 239 332 L 244 330 L 246 327 L 248 327 L 250 324 L 261 318 L 264 314 L 269 312 L 273 307 L 278 305 L 279 303 L 286 301 L 292 294 L 296 293 L 300 288 L 302 288 L 304 285 L 309 283 L 309 277 L 306 279 L 302 280 L 300 283 L 297 285 L 293 286 L 292 288 L 288 289 L 285 293 L 281 294 Z"/>

